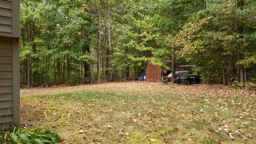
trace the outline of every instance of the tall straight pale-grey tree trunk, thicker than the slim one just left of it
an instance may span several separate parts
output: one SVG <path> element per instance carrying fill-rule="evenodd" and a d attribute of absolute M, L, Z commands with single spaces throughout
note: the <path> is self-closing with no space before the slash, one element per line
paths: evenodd
<path fill-rule="evenodd" d="M 111 28 L 110 28 L 110 7 L 108 5 L 108 10 L 107 10 L 107 35 L 108 35 L 108 82 L 113 82 L 114 77 L 113 77 L 113 69 L 112 69 L 112 64 L 111 64 L 111 57 L 112 57 L 112 47 L 111 47 Z"/>

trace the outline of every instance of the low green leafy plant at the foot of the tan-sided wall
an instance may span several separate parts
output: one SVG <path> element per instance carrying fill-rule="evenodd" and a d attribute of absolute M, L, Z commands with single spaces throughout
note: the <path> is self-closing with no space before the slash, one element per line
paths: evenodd
<path fill-rule="evenodd" d="M 0 143 L 60 143 L 62 140 L 57 133 L 51 132 L 47 127 L 36 127 L 23 130 L 12 126 L 9 132 L 0 132 Z"/>

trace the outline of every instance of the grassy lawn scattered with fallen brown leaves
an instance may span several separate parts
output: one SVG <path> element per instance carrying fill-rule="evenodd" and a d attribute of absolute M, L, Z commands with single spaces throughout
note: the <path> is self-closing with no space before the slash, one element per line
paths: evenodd
<path fill-rule="evenodd" d="M 256 143 L 255 91 L 149 82 L 21 90 L 21 123 L 67 143 Z"/>

